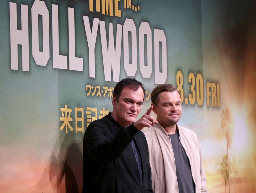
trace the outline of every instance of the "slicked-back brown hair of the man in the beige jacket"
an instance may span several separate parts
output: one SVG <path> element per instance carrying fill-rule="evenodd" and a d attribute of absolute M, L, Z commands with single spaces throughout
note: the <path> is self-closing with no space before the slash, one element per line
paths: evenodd
<path fill-rule="evenodd" d="M 157 97 L 161 92 L 174 92 L 174 91 L 177 91 L 179 93 L 179 91 L 172 84 L 161 84 L 157 86 L 152 90 L 151 103 L 153 103 L 154 105 L 157 105 L 158 103 Z"/>

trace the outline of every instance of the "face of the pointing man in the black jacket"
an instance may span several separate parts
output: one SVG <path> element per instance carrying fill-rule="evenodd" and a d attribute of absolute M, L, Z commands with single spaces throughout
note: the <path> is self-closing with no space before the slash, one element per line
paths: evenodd
<path fill-rule="evenodd" d="M 144 99 L 144 93 L 141 87 L 138 90 L 133 91 L 125 87 L 118 99 L 113 97 L 113 112 L 112 117 L 121 126 L 128 126 L 135 122 L 138 117 Z"/>

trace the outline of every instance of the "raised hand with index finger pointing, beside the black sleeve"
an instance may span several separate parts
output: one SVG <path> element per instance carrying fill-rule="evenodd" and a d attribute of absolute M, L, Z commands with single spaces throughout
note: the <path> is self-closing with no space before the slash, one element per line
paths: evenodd
<path fill-rule="evenodd" d="M 151 105 L 148 111 L 142 115 L 142 117 L 134 123 L 134 126 L 138 129 L 141 130 L 144 127 L 150 127 L 151 125 L 157 124 L 157 121 L 153 116 L 150 115 L 151 111 L 153 109 L 153 106 Z"/>

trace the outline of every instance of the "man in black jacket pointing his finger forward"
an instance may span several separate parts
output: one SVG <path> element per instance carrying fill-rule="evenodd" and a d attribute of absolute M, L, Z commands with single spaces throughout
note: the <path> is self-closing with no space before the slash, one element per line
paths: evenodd
<path fill-rule="evenodd" d="M 113 112 L 93 121 L 84 133 L 83 193 L 153 192 L 144 127 L 157 124 L 153 106 L 139 120 L 145 90 L 126 78 L 116 84 Z M 136 121 L 136 122 L 135 122 Z"/>

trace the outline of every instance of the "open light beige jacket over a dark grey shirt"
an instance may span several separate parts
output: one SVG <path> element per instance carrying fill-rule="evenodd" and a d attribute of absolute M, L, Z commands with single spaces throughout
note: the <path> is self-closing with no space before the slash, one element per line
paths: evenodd
<path fill-rule="evenodd" d="M 201 148 L 196 133 L 181 126 L 177 126 L 177 129 L 180 133 L 180 143 L 185 149 L 191 165 L 196 193 L 207 193 Z M 148 142 L 154 193 L 178 193 L 171 139 L 159 123 L 145 130 L 144 134 Z"/>

